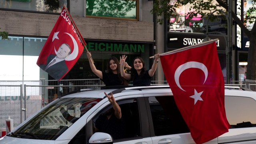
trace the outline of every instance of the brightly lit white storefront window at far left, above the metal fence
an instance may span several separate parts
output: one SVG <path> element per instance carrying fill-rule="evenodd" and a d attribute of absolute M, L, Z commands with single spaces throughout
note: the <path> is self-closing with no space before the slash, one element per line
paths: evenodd
<path fill-rule="evenodd" d="M 0 80 L 39 80 L 40 68 L 36 61 L 46 38 L 8 38 L 9 40 L 0 40 L 0 66 L 3 68 Z"/>

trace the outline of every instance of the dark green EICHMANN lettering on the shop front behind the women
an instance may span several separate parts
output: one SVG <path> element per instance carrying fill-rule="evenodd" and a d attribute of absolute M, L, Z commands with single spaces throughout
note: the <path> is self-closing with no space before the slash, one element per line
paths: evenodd
<path fill-rule="evenodd" d="M 113 44 L 88 42 L 89 51 L 105 52 L 144 52 L 144 44 Z"/>

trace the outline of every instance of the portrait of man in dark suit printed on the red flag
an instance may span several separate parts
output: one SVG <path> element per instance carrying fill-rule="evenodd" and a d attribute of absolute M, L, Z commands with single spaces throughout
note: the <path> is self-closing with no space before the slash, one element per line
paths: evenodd
<path fill-rule="evenodd" d="M 59 80 L 68 71 L 65 58 L 67 58 L 70 53 L 70 46 L 64 43 L 60 46 L 56 54 L 50 54 L 47 57 L 46 64 L 40 64 L 39 67 L 48 72 L 54 79 Z"/>

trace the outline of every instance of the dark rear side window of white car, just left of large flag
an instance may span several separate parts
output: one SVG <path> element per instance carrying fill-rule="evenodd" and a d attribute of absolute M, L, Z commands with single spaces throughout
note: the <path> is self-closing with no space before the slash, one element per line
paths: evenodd
<path fill-rule="evenodd" d="M 190 132 L 173 96 L 149 97 L 148 100 L 156 136 Z"/>

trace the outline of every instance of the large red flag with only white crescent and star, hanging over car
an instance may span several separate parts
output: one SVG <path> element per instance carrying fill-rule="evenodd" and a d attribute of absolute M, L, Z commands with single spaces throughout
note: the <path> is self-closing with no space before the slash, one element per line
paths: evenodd
<path fill-rule="evenodd" d="M 164 54 L 160 60 L 175 102 L 196 144 L 228 132 L 224 78 L 216 42 Z"/>

